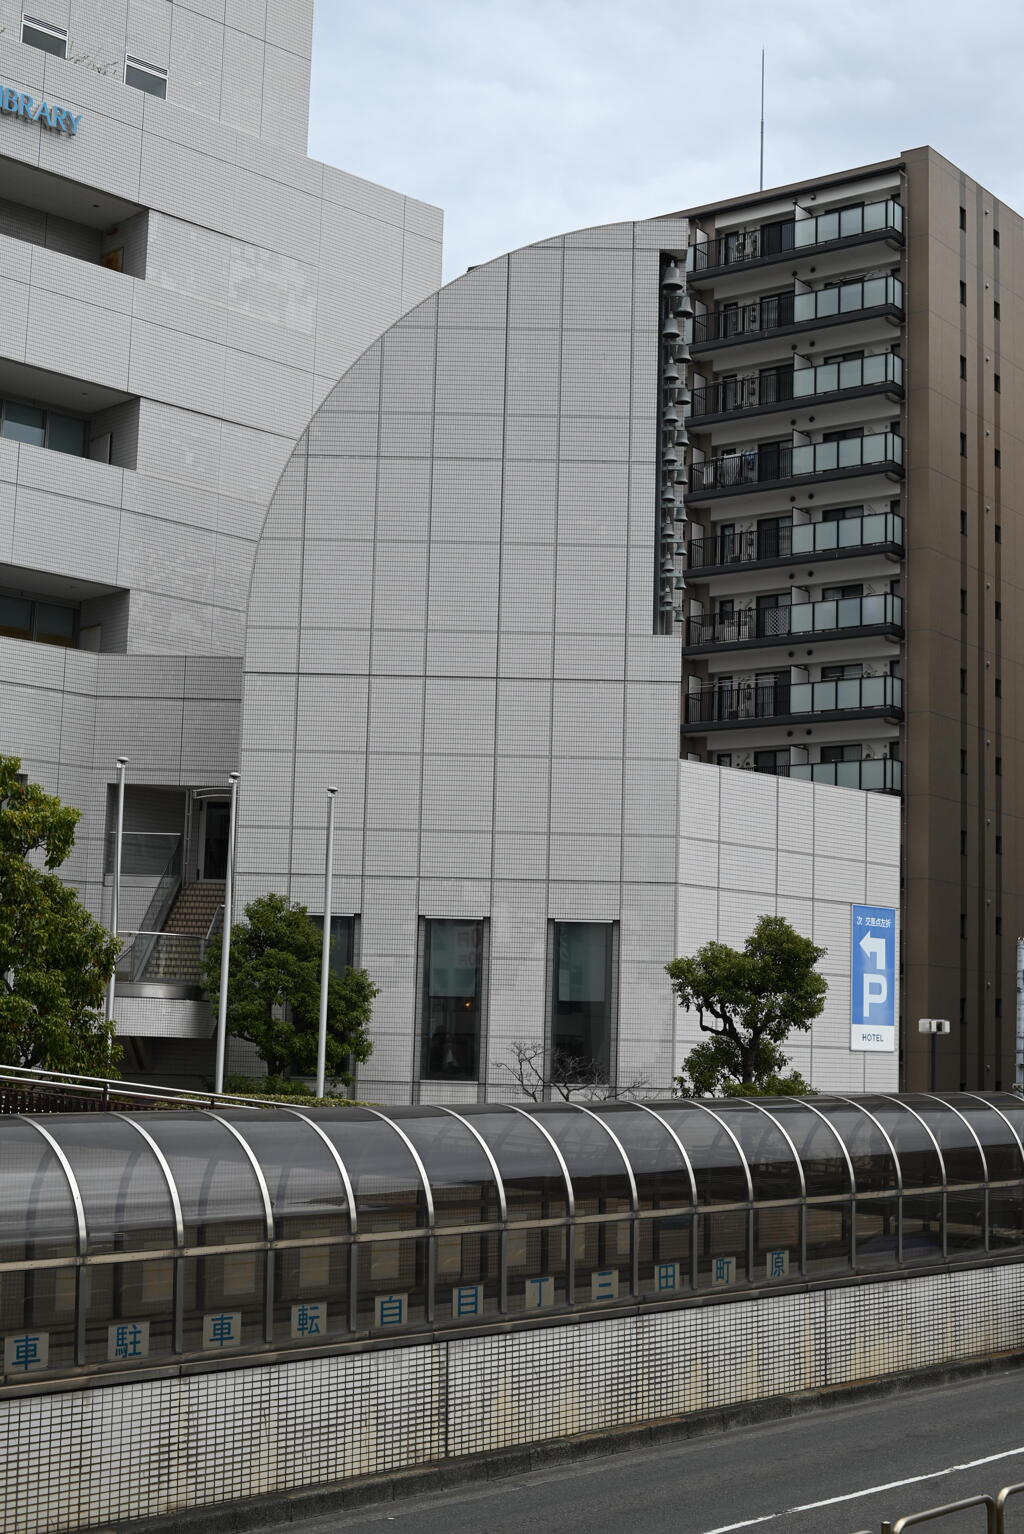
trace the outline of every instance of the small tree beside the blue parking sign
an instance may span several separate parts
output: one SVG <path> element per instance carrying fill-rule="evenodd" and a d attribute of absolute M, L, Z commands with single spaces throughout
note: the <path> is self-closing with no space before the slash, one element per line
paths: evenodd
<path fill-rule="evenodd" d="M 797 1071 L 780 1074 L 782 1045 L 822 1014 L 828 982 L 814 965 L 825 953 L 785 917 L 762 916 L 742 951 L 713 942 L 665 965 L 676 1000 L 711 1035 L 687 1055 L 678 1089 L 687 1097 L 809 1092 Z"/>

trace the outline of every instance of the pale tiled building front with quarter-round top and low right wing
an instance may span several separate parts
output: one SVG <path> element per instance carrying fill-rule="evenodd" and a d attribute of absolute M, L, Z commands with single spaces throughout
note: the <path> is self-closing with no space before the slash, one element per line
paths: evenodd
<path fill-rule="evenodd" d="M 684 221 L 615 224 L 477 267 L 359 359 L 277 485 L 245 638 L 239 894 L 322 910 L 336 784 L 334 910 L 360 914 L 380 986 L 368 1097 L 517 1095 L 556 920 L 618 923 L 618 1083 L 667 1092 L 697 1034 L 664 965 L 704 940 L 719 890 L 733 942 L 765 910 L 831 914 L 837 979 L 869 815 L 895 839 L 872 897 L 898 896 L 898 805 L 808 790 L 820 888 L 797 910 L 779 848 L 803 842 L 774 784 L 768 807 L 753 773 L 681 767 L 679 637 L 653 634 L 659 252 L 681 245 Z M 418 917 L 489 919 L 480 1083 L 418 1083 Z M 828 1085 L 863 1088 L 837 1029 Z"/>

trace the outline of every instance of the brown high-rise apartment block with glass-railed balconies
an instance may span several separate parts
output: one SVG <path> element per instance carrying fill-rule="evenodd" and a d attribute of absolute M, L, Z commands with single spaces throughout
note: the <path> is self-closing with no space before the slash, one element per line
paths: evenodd
<path fill-rule="evenodd" d="M 927 147 L 685 216 L 684 752 L 901 795 L 903 1085 L 1009 1086 L 1024 222 Z"/>

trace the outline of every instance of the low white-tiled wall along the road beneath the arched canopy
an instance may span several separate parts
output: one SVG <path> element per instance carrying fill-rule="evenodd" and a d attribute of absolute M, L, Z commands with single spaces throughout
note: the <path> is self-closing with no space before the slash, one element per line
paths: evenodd
<path fill-rule="evenodd" d="M 1024 1269 L 0 1402 L 5 1534 L 386 1476 L 1024 1345 Z"/>

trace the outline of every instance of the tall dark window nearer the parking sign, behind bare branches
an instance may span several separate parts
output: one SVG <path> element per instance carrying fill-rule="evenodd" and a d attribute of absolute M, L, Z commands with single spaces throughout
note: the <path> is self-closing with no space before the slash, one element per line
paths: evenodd
<path fill-rule="evenodd" d="M 553 922 L 552 927 L 552 1077 L 609 1081 L 613 925 Z"/>

